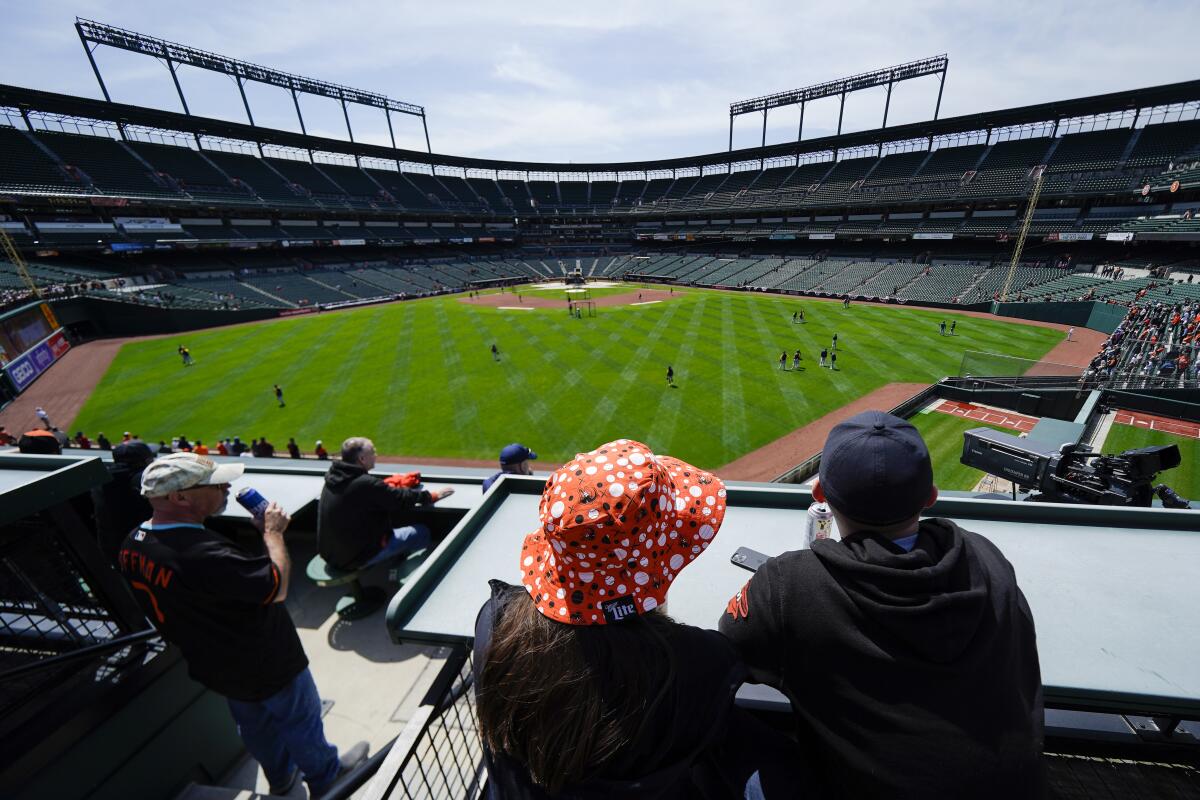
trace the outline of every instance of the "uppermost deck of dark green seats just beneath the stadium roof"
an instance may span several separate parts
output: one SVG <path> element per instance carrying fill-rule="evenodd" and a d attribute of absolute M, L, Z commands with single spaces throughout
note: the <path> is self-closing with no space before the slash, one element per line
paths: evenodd
<path fill-rule="evenodd" d="M 779 206 L 869 206 L 912 201 L 1013 200 L 1030 187 L 1032 167 L 1048 164 L 1043 193 L 1120 196 L 1158 180 L 1187 156 L 1200 157 L 1200 121 L 1156 122 L 1140 130 L 1114 128 L 1057 138 L 1007 140 L 994 145 L 941 146 L 732 174 L 652 180 L 463 179 L 458 175 L 400 174 L 304 160 L 265 158 L 190 146 L 119 142 L 17 128 L 0 130 L 0 143 L 16 157 L 0 164 L 0 188 L 10 191 L 98 192 L 133 198 L 200 200 L 268 207 L 382 210 L 455 213 L 560 209 L 670 212 Z M 710 168 L 709 168 L 710 169 Z M 1200 175 L 1184 173 L 1200 185 Z M 1156 191 L 1174 175 L 1162 175 Z M 1165 181 L 1165 182 L 1163 182 Z M 740 233 L 740 231 L 737 231 Z"/>

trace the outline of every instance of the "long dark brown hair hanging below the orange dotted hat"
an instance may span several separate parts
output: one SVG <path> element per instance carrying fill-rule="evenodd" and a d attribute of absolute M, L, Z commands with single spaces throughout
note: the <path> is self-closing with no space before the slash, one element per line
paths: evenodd
<path fill-rule="evenodd" d="M 476 687 L 480 733 L 548 792 L 605 772 L 674 690 L 674 621 L 566 625 L 524 591 L 504 607 Z"/>

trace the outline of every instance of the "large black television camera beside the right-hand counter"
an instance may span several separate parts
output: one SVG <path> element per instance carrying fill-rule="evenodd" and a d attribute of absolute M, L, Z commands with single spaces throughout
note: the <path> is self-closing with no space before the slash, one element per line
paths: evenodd
<path fill-rule="evenodd" d="M 1008 479 L 1031 492 L 1027 499 L 1034 501 L 1148 507 L 1158 495 L 1168 509 L 1190 507 L 1165 483 L 1153 483 L 1158 473 L 1180 465 L 1177 445 L 1103 456 L 1082 444 L 1054 447 L 991 428 L 972 428 L 962 434 L 961 462 Z"/>

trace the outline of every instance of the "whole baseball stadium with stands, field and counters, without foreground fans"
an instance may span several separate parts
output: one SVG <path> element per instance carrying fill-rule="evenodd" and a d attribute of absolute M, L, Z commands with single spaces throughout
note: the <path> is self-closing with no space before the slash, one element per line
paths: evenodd
<path fill-rule="evenodd" d="M 809 548 L 826 443 L 866 411 L 928 447 L 922 513 L 1015 570 L 1046 796 L 1200 796 L 1200 80 L 946 116 L 949 55 L 864 55 L 732 102 L 716 152 L 516 161 L 437 151 L 437 109 L 184 29 L 55 34 L 96 96 L 0 84 L 0 796 L 306 796 L 298 770 L 308 796 L 510 796 L 476 612 L 518 575 L 542 492 L 601 443 L 722 481 L 720 536 L 670 595 L 676 621 L 715 628 L 740 554 Z M 178 108 L 114 101 L 110 50 L 164 64 Z M 232 78 L 244 116 L 193 113 L 184 67 Z M 889 125 L 910 82 L 929 108 Z M 298 130 L 257 125 L 251 84 L 289 95 Z M 881 121 L 844 131 L 872 89 Z M 344 131 L 306 126 L 314 98 Z M 805 130 L 818 102 L 840 103 L 835 131 Z M 356 137 L 348 108 L 390 140 Z M 768 143 L 772 114 L 798 114 L 796 136 Z M 745 115 L 761 139 L 734 146 Z M 134 447 L 143 503 L 178 453 L 236 467 L 238 503 L 198 527 L 276 581 L 241 492 L 284 515 L 277 604 L 343 752 L 334 778 L 270 774 L 247 711 L 161 627 L 128 530 L 106 537 Z M 424 497 L 390 525 L 420 545 L 334 563 L 320 531 L 347 464 Z M 733 705 L 776 730 L 808 718 L 749 679 Z"/>

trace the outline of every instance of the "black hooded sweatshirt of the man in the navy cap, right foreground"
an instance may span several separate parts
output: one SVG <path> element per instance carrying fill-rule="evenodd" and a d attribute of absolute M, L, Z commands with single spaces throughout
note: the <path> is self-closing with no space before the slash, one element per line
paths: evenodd
<path fill-rule="evenodd" d="M 720 621 L 832 796 L 1037 798 L 1042 678 L 1013 566 L 947 519 L 769 559 Z"/>

